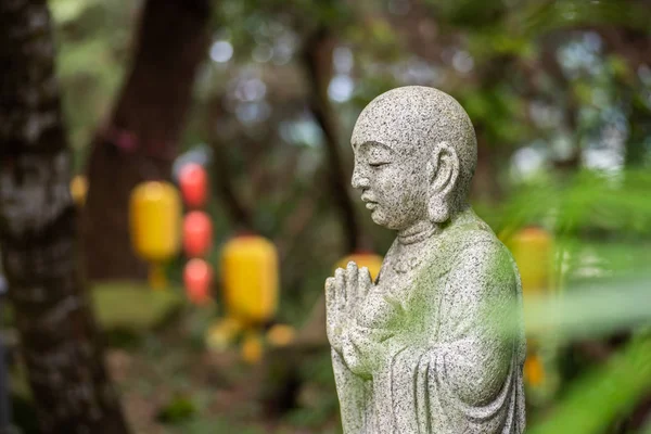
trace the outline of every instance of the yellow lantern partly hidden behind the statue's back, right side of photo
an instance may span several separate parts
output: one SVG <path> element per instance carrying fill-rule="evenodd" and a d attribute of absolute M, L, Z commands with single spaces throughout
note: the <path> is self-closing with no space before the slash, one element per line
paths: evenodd
<path fill-rule="evenodd" d="M 538 227 L 527 227 L 515 232 L 508 246 L 513 254 L 522 279 L 522 291 L 540 294 L 551 286 L 552 238 Z"/>

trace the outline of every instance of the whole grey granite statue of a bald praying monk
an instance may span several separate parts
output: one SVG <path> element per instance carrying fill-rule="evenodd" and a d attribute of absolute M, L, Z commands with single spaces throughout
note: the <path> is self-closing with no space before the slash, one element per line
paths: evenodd
<path fill-rule="evenodd" d="M 397 88 L 363 110 L 352 145 L 353 187 L 397 239 L 375 282 L 355 263 L 326 282 L 344 433 L 522 433 L 520 276 L 467 202 L 468 114 L 439 90 Z"/>

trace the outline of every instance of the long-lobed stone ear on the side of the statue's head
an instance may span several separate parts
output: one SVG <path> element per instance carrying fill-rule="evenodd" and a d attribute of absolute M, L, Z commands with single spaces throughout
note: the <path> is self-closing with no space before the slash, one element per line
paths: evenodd
<path fill-rule="evenodd" d="M 447 142 L 434 145 L 426 165 L 427 173 L 427 214 L 430 220 L 444 222 L 452 213 L 451 195 L 459 179 L 459 156 Z"/>

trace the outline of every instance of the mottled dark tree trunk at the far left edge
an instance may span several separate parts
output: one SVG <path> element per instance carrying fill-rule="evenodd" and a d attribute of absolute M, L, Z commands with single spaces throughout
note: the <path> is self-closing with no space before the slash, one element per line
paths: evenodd
<path fill-rule="evenodd" d="M 77 250 L 44 0 L 0 2 L 0 243 L 43 433 L 127 433 Z"/>

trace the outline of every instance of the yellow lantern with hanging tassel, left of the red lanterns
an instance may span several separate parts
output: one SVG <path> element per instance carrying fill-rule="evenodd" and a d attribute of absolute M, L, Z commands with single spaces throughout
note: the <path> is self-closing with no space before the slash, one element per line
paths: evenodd
<path fill-rule="evenodd" d="M 148 181 L 133 189 L 130 201 L 131 243 L 151 263 L 150 284 L 165 286 L 163 264 L 179 252 L 181 201 L 168 182 Z"/>

